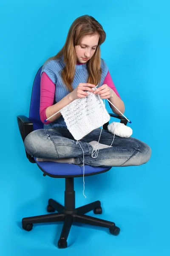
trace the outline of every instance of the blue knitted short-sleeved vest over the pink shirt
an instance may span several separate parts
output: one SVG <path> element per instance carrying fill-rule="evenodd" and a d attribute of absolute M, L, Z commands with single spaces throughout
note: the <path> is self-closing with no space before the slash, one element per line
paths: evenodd
<path fill-rule="evenodd" d="M 59 102 L 62 98 L 64 98 L 70 91 L 66 87 L 66 85 L 62 81 L 61 77 L 61 71 L 65 67 L 65 64 L 63 62 L 63 56 L 57 60 L 50 60 L 47 61 L 43 66 L 41 70 L 42 72 L 45 72 L 51 81 L 53 81 L 54 84 L 56 84 L 55 89 L 55 97 L 54 97 L 54 104 Z M 108 73 L 108 66 L 106 65 L 105 61 L 101 58 L 101 68 L 102 68 L 102 76 L 99 86 L 101 86 L 105 80 L 105 76 Z M 76 65 L 75 66 L 75 76 L 74 81 L 72 82 L 72 87 L 75 89 L 79 83 L 87 83 L 88 81 L 88 70 L 87 70 L 87 64 L 82 65 Z M 44 124 L 45 129 L 50 129 L 53 127 L 67 127 L 66 123 L 64 121 L 64 118 L 60 116 L 57 120 L 54 122 L 51 122 L 47 125 Z"/>

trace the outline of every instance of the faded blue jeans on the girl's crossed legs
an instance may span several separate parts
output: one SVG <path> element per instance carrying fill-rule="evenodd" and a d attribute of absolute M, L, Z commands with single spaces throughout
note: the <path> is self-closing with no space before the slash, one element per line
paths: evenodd
<path fill-rule="evenodd" d="M 147 163 L 150 159 L 150 147 L 133 137 L 122 138 L 101 128 L 91 131 L 82 138 L 79 143 L 83 148 L 84 163 L 89 166 L 138 166 Z M 99 149 L 98 156 L 93 158 L 91 141 L 98 141 L 110 148 Z M 67 128 L 56 127 L 52 129 L 38 129 L 27 135 L 24 145 L 28 154 L 38 158 L 70 158 L 74 157 L 74 163 L 83 165 L 83 151 Z"/>

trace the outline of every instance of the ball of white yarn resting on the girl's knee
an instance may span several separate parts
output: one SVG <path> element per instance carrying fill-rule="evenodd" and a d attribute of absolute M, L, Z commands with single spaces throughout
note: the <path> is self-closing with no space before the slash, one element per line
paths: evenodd
<path fill-rule="evenodd" d="M 110 131 L 112 134 L 115 133 L 115 135 L 119 137 L 125 137 L 128 138 L 132 135 L 132 129 L 123 123 L 119 122 L 112 122 L 108 125 L 108 131 Z"/>

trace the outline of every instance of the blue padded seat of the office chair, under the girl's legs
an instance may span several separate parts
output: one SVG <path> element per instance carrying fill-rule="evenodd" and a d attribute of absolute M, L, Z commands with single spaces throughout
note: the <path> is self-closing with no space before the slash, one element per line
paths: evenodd
<path fill-rule="evenodd" d="M 83 166 L 70 163 L 56 163 L 56 162 L 38 162 L 34 157 L 38 167 L 49 176 L 56 177 L 81 177 L 83 176 Z M 95 175 L 102 172 L 107 172 L 111 167 L 94 167 L 85 165 L 85 176 Z"/>

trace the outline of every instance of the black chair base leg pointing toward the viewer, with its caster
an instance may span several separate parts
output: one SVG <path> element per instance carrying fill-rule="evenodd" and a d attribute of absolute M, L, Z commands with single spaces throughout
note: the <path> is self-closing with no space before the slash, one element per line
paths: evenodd
<path fill-rule="evenodd" d="M 65 221 L 62 227 L 61 236 L 58 241 L 58 247 L 59 248 L 66 248 L 67 247 L 67 239 L 68 235 L 71 229 L 71 225 L 73 223 L 73 216 L 72 215 L 66 215 Z"/>

